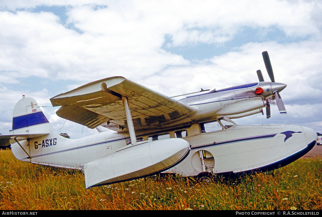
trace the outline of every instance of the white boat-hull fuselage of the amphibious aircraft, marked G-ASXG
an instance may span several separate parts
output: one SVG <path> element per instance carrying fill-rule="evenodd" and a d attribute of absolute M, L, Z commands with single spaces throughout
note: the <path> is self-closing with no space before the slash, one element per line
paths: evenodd
<path fill-rule="evenodd" d="M 175 137 L 186 140 L 191 147 L 189 155 L 181 163 L 167 170 L 184 176 L 193 176 L 200 172 L 216 174 L 269 168 L 269 165 L 292 156 L 297 159 L 298 152 L 308 149 L 308 145 L 313 142 L 315 144 L 317 140 L 317 134 L 312 129 L 301 126 L 227 125 L 225 128 L 227 129 L 205 132 L 201 124 L 194 124 L 157 132 L 141 131 L 137 132 L 137 140 L 166 142 L 166 139 Z M 294 133 L 286 139 L 287 136 L 282 134 L 285 132 Z M 85 164 L 111 155 L 130 143 L 129 135 L 115 136 L 107 132 L 81 139 L 66 139 L 62 136 L 57 137 L 56 134 L 52 135 L 47 135 L 44 139 L 30 139 L 29 145 L 27 140 L 21 142 L 29 149 L 31 159 L 28 159 L 17 143 L 13 144 L 15 157 L 32 163 L 82 169 Z M 203 161 L 200 151 L 204 152 Z"/>

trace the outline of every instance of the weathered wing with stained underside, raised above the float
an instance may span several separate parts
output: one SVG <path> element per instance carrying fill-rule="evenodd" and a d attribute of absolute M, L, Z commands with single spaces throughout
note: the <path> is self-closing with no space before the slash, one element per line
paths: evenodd
<path fill-rule="evenodd" d="M 89 128 L 101 125 L 119 132 L 127 128 L 122 95 L 128 97 L 136 130 L 189 124 L 197 111 L 120 76 L 91 82 L 50 100 L 53 106 L 62 106 L 56 111 L 59 117 Z"/>

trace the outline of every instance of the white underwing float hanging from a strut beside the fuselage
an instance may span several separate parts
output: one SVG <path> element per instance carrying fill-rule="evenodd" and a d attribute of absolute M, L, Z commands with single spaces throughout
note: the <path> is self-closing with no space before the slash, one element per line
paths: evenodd
<path fill-rule="evenodd" d="M 183 161 L 190 152 L 184 139 L 171 138 L 129 146 L 84 165 L 86 188 L 153 175 Z"/>

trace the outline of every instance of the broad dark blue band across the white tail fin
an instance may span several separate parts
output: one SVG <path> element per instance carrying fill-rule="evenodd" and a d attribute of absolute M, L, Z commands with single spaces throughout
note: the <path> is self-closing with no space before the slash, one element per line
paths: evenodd
<path fill-rule="evenodd" d="M 28 126 L 49 123 L 42 111 L 12 118 L 12 129 L 17 130 Z"/>

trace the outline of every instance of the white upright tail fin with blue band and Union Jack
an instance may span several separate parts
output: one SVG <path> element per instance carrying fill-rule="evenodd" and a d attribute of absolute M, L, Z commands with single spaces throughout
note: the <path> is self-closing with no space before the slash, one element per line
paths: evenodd
<path fill-rule="evenodd" d="M 39 108 L 36 100 L 25 97 L 14 106 L 11 134 L 53 133 L 54 129 Z"/>

